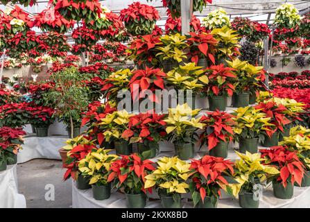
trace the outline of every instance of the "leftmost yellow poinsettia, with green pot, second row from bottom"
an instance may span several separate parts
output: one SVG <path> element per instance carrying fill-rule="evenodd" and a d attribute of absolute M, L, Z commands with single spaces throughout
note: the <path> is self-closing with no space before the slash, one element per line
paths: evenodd
<path fill-rule="evenodd" d="M 125 130 L 128 130 L 128 123 L 133 114 L 128 114 L 126 110 L 115 111 L 98 121 L 98 143 L 114 143 L 117 155 L 130 155 L 132 153 L 132 144 L 124 137 L 121 137 Z"/>

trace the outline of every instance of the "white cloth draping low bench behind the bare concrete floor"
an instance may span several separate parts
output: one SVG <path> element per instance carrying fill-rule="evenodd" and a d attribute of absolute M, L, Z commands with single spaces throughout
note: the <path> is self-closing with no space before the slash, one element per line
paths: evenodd
<path fill-rule="evenodd" d="M 58 150 L 65 145 L 68 137 L 24 137 L 24 145 L 18 153 L 18 163 L 36 158 L 61 160 Z"/>

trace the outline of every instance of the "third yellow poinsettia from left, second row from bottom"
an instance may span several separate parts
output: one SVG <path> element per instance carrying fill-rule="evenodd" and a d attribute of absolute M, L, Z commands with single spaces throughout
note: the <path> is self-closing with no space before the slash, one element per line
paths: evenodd
<path fill-rule="evenodd" d="M 252 106 L 238 108 L 234 110 L 234 120 L 237 124 L 233 130 L 236 133 L 236 139 L 263 139 L 264 131 L 268 131 L 268 126 L 274 126 L 270 123 L 270 117 L 266 117 L 264 112 L 255 109 Z"/>

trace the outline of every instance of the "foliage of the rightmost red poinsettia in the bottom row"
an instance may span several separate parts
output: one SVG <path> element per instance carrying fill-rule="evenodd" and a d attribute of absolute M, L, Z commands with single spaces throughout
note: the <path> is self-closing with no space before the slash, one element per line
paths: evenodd
<path fill-rule="evenodd" d="M 261 157 L 266 159 L 265 164 L 273 164 L 280 171 L 279 175 L 275 175 L 269 180 L 281 182 L 283 187 L 286 187 L 288 182 L 291 182 L 292 185 L 294 182 L 301 185 L 304 166 L 295 151 L 289 151 L 286 146 L 273 146 L 259 152 L 261 152 Z"/>

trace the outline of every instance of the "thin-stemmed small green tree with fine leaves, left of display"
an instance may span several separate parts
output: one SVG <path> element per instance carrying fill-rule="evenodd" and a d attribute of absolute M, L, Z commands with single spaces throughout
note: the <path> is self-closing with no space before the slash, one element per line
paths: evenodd
<path fill-rule="evenodd" d="M 89 102 L 83 76 L 71 66 L 55 71 L 50 78 L 55 88 L 47 95 L 48 101 L 54 104 L 55 116 L 64 121 L 70 137 L 74 138 L 74 128 L 80 128 L 82 113 Z"/>

